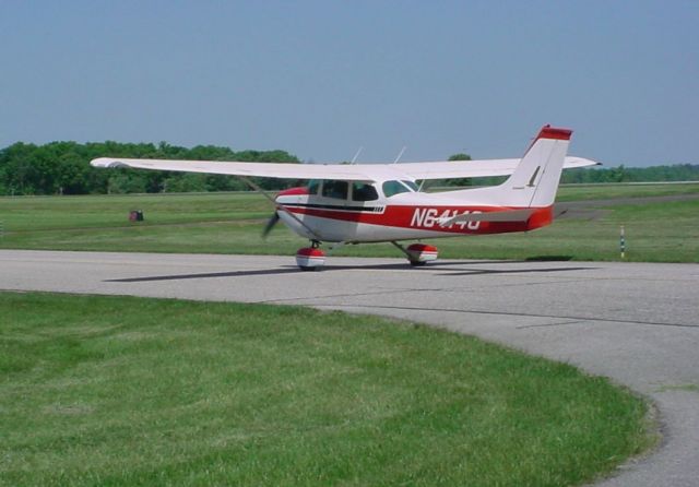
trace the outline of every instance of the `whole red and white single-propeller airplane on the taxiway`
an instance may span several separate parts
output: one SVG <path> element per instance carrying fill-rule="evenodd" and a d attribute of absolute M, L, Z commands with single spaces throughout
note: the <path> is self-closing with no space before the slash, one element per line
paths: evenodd
<path fill-rule="evenodd" d="M 264 191 L 249 177 L 300 179 L 304 187 L 266 195 L 275 210 L 263 230 L 266 237 L 280 219 L 310 245 L 296 263 L 317 271 L 325 263 L 323 242 L 391 242 L 419 266 L 434 261 L 433 245 L 405 240 L 530 231 L 549 225 L 564 168 L 599 163 L 567 156 L 571 130 L 544 126 L 524 156 L 508 159 L 402 164 L 273 164 L 215 161 L 170 161 L 99 157 L 94 167 L 206 173 L 237 176 Z M 418 181 L 509 176 L 498 186 L 425 192 Z"/>

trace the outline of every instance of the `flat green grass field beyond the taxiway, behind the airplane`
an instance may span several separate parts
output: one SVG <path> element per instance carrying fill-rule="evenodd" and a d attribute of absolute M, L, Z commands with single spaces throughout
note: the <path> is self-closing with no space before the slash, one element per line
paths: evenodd
<path fill-rule="evenodd" d="M 683 201 L 629 198 L 695 194 Z M 594 214 L 561 218 L 531 234 L 434 240 L 442 258 L 699 262 L 699 183 L 568 186 L 558 201 L 619 199 Z M 129 223 L 130 210 L 145 222 Z M 0 198 L 0 248 L 294 254 L 306 241 L 283 225 L 260 233 L 271 204 L 256 193 Z M 335 256 L 402 257 L 390 245 L 346 246 Z"/>

